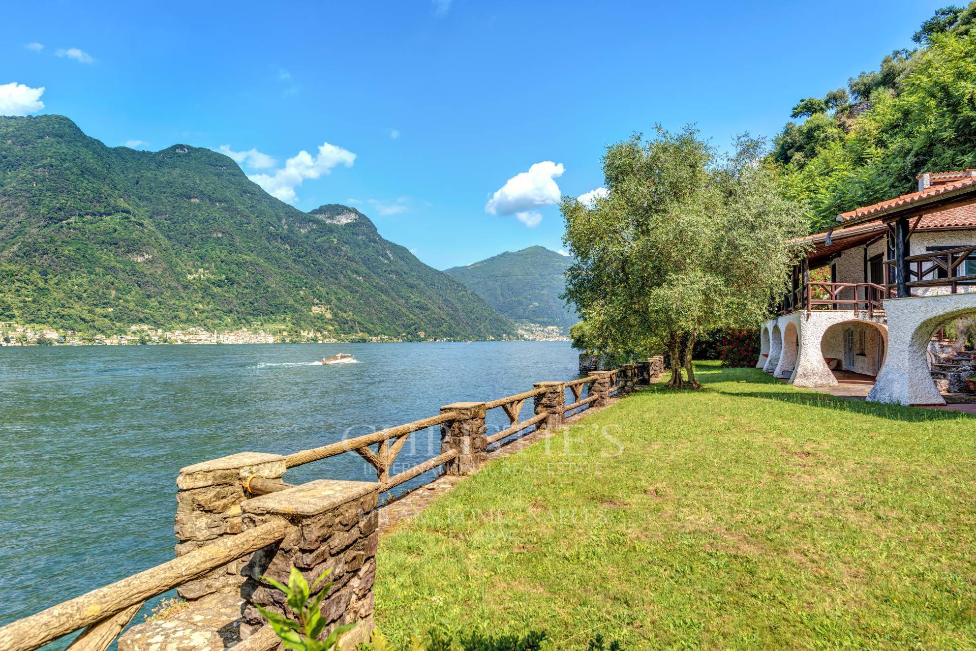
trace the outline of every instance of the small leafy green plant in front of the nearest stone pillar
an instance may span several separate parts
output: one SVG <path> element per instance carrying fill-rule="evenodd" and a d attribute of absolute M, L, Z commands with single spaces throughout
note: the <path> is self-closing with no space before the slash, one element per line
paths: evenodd
<path fill-rule="evenodd" d="M 281 613 L 265 610 L 258 606 L 258 610 L 264 615 L 264 619 L 271 625 L 271 629 L 281 639 L 281 645 L 286 649 L 296 651 L 329 651 L 336 646 L 343 633 L 355 628 L 355 625 L 346 624 L 329 633 L 324 641 L 318 639 L 328 622 L 322 618 L 322 600 L 332 588 L 332 582 L 322 586 L 321 590 L 314 592 L 319 584 L 329 574 L 325 571 L 315 580 L 315 583 L 308 587 L 305 577 L 294 566 L 288 576 L 288 585 L 278 583 L 274 579 L 262 577 L 264 581 L 281 590 L 287 596 L 287 603 L 295 611 L 298 621 L 289 619 Z"/>

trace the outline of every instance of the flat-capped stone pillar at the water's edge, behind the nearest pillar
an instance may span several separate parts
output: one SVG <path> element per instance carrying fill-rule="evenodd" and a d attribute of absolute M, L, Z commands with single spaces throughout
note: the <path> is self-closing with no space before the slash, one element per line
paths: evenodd
<path fill-rule="evenodd" d="M 178 556 L 241 532 L 241 504 L 247 498 L 243 481 L 252 474 L 277 478 L 285 473 L 285 458 L 258 452 L 241 452 L 181 468 L 177 477 L 177 516 L 174 531 L 180 543 Z M 241 574 L 250 556 L 231 561 L 177 589 L 193 601 L 213 592 L 236 590 L 246 577 Z"/>

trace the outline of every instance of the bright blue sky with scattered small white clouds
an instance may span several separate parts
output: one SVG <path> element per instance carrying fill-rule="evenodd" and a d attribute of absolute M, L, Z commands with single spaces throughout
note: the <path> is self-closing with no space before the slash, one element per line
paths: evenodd
<path fill-rule="evenodd" d="M 559 249 L 553 197 L 598 188 L 633 131 L 775 135 L 944 4 L 40 0 L 4 8 L 0 88 L 110 146 L 226 145 L 445 268 Z"/>

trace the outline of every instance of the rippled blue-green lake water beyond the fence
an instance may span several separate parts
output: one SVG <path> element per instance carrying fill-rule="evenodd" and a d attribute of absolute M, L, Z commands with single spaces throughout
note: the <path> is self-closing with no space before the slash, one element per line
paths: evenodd
<path fill-rule="evenodd" d="M 311 363 L 340 351 L 359 363 Z M 576 375 L 568 342 L 0 347 L 0 625 L 172 558 L 183 466 Z M 508 425 L 498 412 L 489 433 Z M 394 472 L 440 451 L 436 427 L 411 439 Z M 286 476 L 376 481 L 354 454 Z"/>

